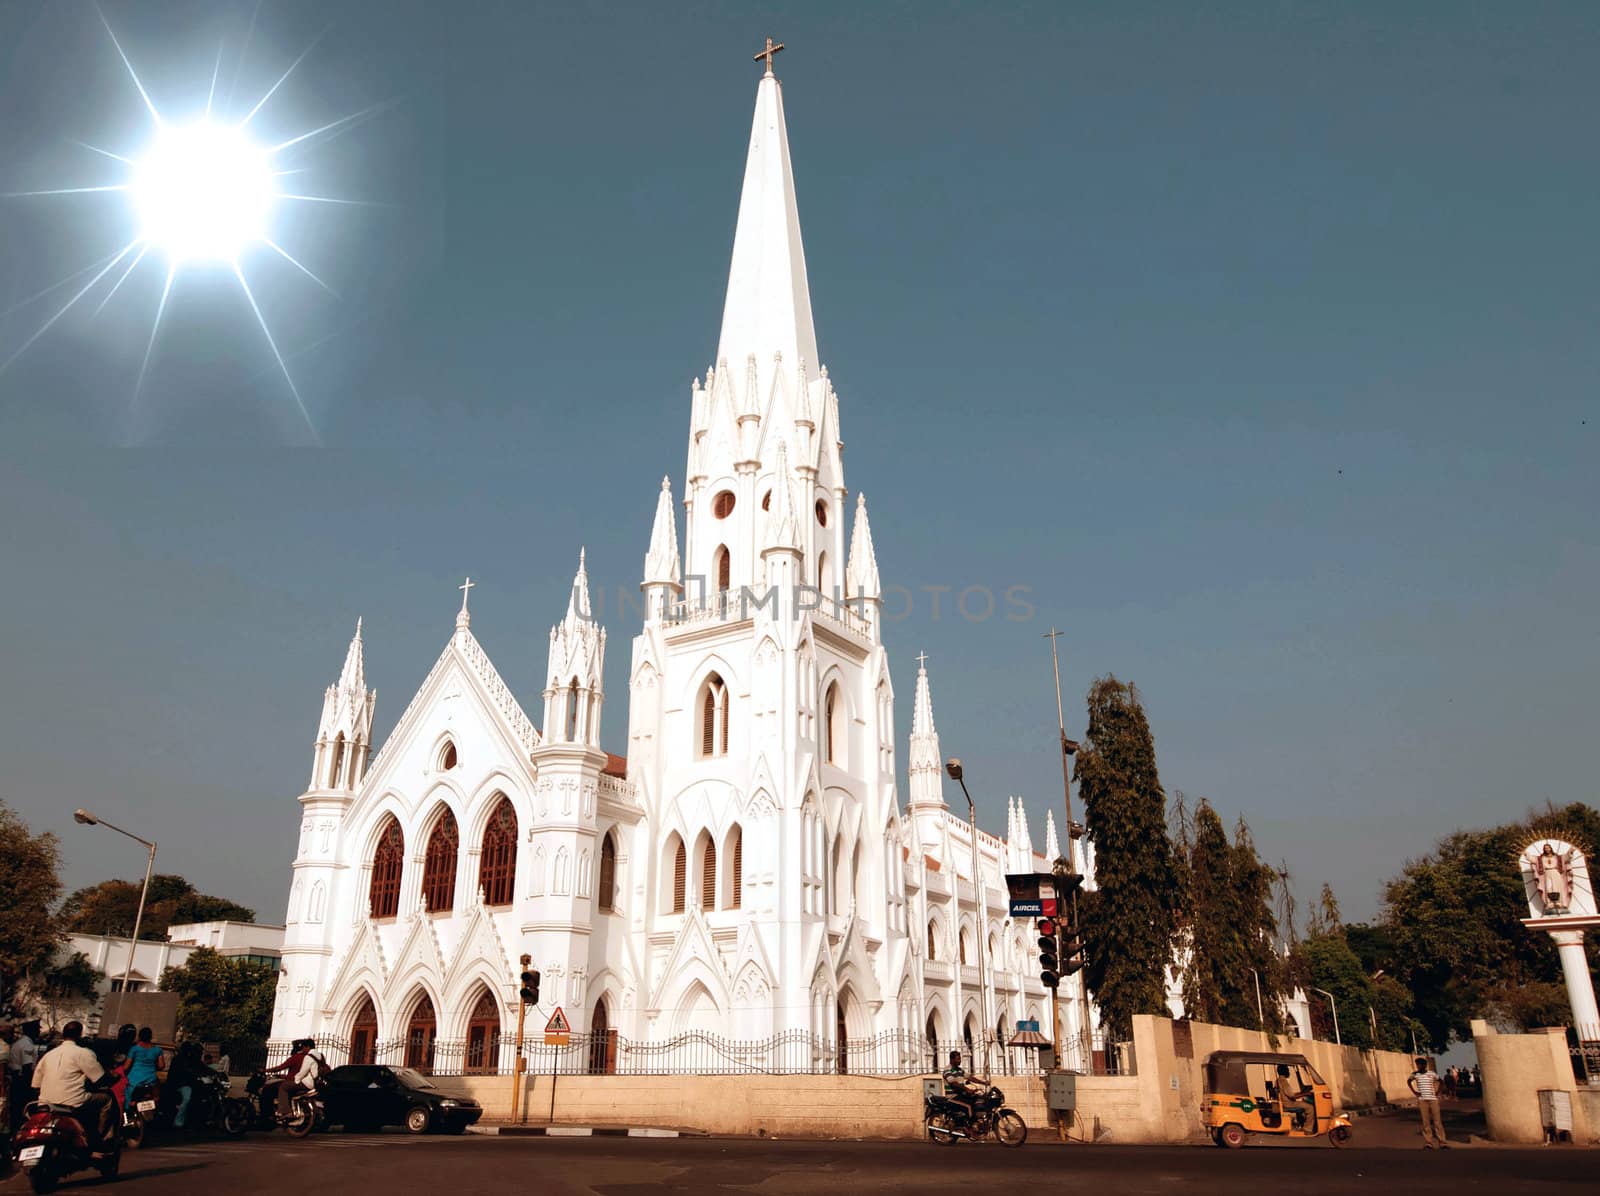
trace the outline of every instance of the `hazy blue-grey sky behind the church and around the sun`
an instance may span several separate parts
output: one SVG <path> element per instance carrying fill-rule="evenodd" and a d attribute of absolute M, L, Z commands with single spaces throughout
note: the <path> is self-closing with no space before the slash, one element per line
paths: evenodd
<path fill-rule="evenodd" d="M 1594 798 L 1594 5 L 267 0 L 246 48 L 251 10 L 106 5 L 163 110 L 221 45 L 242 114 L 318 34 L 261 134 L 384 106 L 294 163 L 379 201 L 283 230 L 338 297 L 251 264 L 322 448 L 227 277 L 179 280 L 138 408 L 158 272 L 0 374 L 0 796 L 70 884 L 139 863 L 86 804 L 280 916 L 357 616 L 387 732 L 464 574 L 538 718 L 587 545 L 622 744 L 616 595 L 682 484 L 766 34 L 846 476 L 915 596 L 902 744 L 926 649 L 990 827 L 1059 811 L 1051 625 L 1069 729 L 1133 680 L 1168 790 L 1354 915 L 1458 825 Z M 94 10 L 5 5 L 0 46 L 0 190 L 104 181 L 74 141 L 147 118 Z M 128 238 L 117 195 L 0 203 L 0 310 Z"/>

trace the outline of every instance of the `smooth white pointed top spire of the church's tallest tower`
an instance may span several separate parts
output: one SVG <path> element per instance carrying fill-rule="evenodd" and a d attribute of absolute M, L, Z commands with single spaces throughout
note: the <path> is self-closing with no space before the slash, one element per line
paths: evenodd
<path fill-rule="evenodd" d="M 778 353 L 789 369 L 803 363 L 806 382 L 818 379 L 811 289 L 800 243 L 782 86 L 776 75 L 766 74 L 755 90 L 755 118 L 744 161 L 717 361 L 731 361 L 738 368 L 754 357 L 760 374 L 757 393 L 765 397 L 773 385 L 773 371 L 779 368 L 774 361 Z"/>

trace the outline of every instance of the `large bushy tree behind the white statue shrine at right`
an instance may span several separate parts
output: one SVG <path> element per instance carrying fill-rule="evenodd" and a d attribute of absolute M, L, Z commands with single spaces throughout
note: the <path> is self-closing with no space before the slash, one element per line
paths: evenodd
<path fill-rule="evenodd" d="M 1570 1020 L 1550 937 L 1522 924 L 1528 903 L 1515 862 L 1542 835 L 1594 859 L 1600 814 L 1546 806 L 1522 822 L 1454 831 L 1386 886 L 1387 971 L 1413 993 L 1434 1046 L 1467 1038 L 1474 1017 L 1507 1028 Z M 1589 953 L 1594 966 L 1592 942 Z"/>

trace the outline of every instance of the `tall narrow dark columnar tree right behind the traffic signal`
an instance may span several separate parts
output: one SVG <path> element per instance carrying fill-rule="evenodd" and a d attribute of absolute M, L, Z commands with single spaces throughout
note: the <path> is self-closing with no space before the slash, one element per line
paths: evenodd
<path fill-rule="evenodd" d="M 1088 744 L 1077 767 L 1096 879 L 1078 907 L 1085 975 L 1104 1027 L 1125 1039 L 1134 1014 L 1166 1012 L 1179 878 L 1155 740 L 1138 691 L 1114 676 L 1099 678 L 1090 688 L 1088 710 Z"/>

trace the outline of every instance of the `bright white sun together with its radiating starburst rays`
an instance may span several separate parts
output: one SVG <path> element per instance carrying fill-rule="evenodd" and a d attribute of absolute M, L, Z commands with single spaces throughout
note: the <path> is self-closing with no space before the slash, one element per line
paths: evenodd
<path fill-rule="evenodd" d="M 10 309 L 18 310 L 21 307 L 27 307 L 48 294 L 67 288 L 70 283 L 93 272 L 88 283 L 74 291 L 72 297 L 58 307 L 54 313 L 32 333 L 32 336 L 22 341 L 16 350 L 0 361 L 0 373 L 5 373 L 13 361 L 27 352 L 67 312 L 70 312 L 78 302 L 85 301 L 107 278 L 112 281 L 106 294 L 99 299 L 99 304 L 94 307 L 96 315 L 106 309 L 106 305 L 122 289 L 123 283 L 128 281 L 136 270 L 139 270 L 141 264 L 154 261 L 163 270 L 165 281 L 162 285 L 160 299 L 155 305 L 155 313 L 150 320 L 150 334 L 144 345 L 139 373 L 133 385 L 130 411 L 136 411 L 139 395 L 144 390 L 146 376 L 150 369 L 150 360 L 155 355 L 162 321 L 163 317 L 168 315 L 170 301 L 173 299 L 179 277 L 189 270 L 227 270 L 238 281 L 240 291 L 254 317 L 254 323 L 259 326 L 261 336 L 266 339 L 272 360 L 283 374 L 283 382 L 288 385 L 288 392 L 294 400 L 294 406 L 299 411 L 301 419 L 306 422 L 307 433 L 312 441 L 318 441 L 317 429 L 301 397 L 301 390 L 294 384 L 294 377 L 290 374 L 285 355 L 278 347 L 278 339 L 274 337 L 267 317 L 261 310 L 256 294 L 245 277 L 245 257 L 256 249 L 269 249 L 272 257 L 282 259 L 288 265 L 294 267 L 298 273 L 309 278 L 323 291 L 328 291 L 328 294 L 336 294 L 334 289 L 322 280 L 322 277 L 280 245 L 280 233 L 275 227 L 277 216 L 280 214 L 280 209 L 290 203 L 358 206 L 362 201 L 344 200 L 331 195 L 307 195 L 299 190 L 283 190 L 278 181 L 302 171 L 282 168 L 278 155 L 317 138 L 339 136 L 374 112 L 381 110 L 384 106 L 362 109 L 360 112 L 339 117 L 338 120 L 275 144 L 258 141 L 250 131 L 251 122 L 261 114 L 274 94 L 278 93 L 285 82 L 288 82 L 290 75 L 294 74 L 294 69 L 306 61 L 306 56 L 310 54 L 312 48 L 317 45 L 317 40 L 314 40 L 312 45 L 309 45 L 277 78 L 277 82 L 274 82 L 274 85 L 267 88 L 267 91 L 250 107 L 248 114 L 242 120 L 232 122 L 219 117 L 213 107 L 218 99 L 216 82 L 222 69 L 222 50 L 218 48 L 216 64 L 213 66 L 210 86 L 206 88 L 203 114 L 192 120 L 168 120 L 150 98 L 150 93 L 146 90 L 139 74 L 133 67 L 133 61 L 122 48 L 122 42 L 118 42 L 110 22 L 106 21 L 104 13 L 101 13 L 101 24 L 106 26 L 106 34 L 110 38 L 112 46 L 115 46 L 117 56 L 122 59 L 123 67 L 126 67 L 128 78 L 133 82 L 139 99 L 149 112 L 152 123 L 149 144 L 134 153 L 117 153 L 99 146 L 91 146 L 86 141 L 75 141 L 74 144 L 82 146 L 93 153 L 123 163 L 126 168 L 126 177 L 122 182 L 112 184 L 91 182 L 85 185 L 53 187 L 46 190 L 10 192 L 6 198 L 122 195 L 136 216 L 139 233 L 133 241 L 122 246 L 120 251 L 112 253 L 109 257 L 101 257 L 91 265 L 86 265 L 67 278 L 46 286 Z M 251 27 L 254 27 L 254 22 L 251 22 Z M 248 51 L 248 38 L 250 35 L 246 34 L 240 59 L 243 59 L 243 54 Z M 122 265 L 120 273 L 117 272 L 118 265 Z"/>

